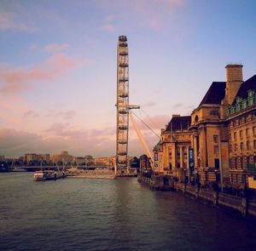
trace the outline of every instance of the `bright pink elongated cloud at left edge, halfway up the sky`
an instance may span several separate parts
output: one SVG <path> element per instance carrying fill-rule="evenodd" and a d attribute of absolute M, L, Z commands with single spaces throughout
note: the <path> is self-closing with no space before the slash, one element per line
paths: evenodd
<path fill-rule="evenodd" d="M 0 67 L 0 93 L 20 93 L 32 89 L 32 83 L 49 81 L 65 74 L 77 66 L 77 62 L 67 54 L 54 54 L 38 66 L 10 69 Z"/>

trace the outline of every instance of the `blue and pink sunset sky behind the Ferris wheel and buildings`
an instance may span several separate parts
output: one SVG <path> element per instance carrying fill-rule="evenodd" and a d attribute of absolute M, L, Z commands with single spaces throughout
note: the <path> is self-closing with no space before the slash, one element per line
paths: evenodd
<path fill-rule="evenodd" d="M 130 103 L 157 134 L 226 80 L 227 63 L 256 74 L 254 0 L 0 0 L 0 155 L 113 156 L 120 35 Z M 129 155 L 143 154 L 129 137 Z"/>

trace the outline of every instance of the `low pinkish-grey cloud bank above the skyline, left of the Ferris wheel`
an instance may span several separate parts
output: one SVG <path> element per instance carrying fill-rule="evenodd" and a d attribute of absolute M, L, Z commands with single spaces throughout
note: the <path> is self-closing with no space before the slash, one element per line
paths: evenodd
<path fill-rule="evenodd" d="M 54 123 L 45 134 L 0 128 L 0 154 L 19 157 L 27 152 L 56 154 L 69 151 L 74 156 L 97 157 L 115 154 L 114 128 L 80 130 L 71 123 Z"/>

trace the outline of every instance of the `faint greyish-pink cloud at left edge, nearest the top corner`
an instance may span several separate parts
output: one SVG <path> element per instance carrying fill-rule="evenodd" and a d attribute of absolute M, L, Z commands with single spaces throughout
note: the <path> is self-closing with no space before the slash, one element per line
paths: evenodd
<path fill-rule="evenodd" d="M 32 27 L 26 26 L 17 19 L 17 16 L 8 12 L 0 12 L 0 31 L 32 31 Z"/>

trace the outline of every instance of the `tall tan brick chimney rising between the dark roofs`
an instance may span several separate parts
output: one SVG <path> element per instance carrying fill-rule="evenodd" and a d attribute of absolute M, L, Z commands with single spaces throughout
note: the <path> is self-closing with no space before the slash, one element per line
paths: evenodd
<path fill-rule="evenodd" d="M 227 83 L 224 100 L 228 105 L 232 105 L 241 83 L 243 82 L 241 68 L 241 64 L 229 64 L 226 66 Z"/>

